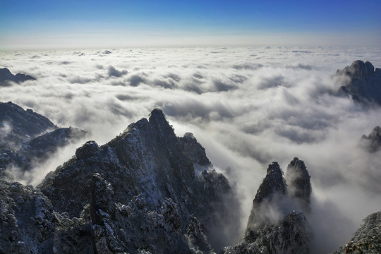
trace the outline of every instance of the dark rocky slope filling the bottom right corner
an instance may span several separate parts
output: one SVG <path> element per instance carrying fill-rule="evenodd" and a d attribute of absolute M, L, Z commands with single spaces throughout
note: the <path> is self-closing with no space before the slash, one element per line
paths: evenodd
<path fill-rule="evenodd" d="M 370 214 L 351 241 L 332 254 L 381 253 L 381 211 Z"/>

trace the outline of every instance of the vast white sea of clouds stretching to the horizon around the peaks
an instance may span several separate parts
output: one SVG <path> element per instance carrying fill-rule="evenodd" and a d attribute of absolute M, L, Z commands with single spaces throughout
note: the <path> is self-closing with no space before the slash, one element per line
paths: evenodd
<path fill-rule="evenodd" d="M 349 241 L 361 219 L 381 209 L 381 152 L 360 145 L 381 125 L 381 108 L 334 96 L 343 80 L 332 77 L 355 60 L 381 67 L 381 49 L 108 50 L 0 52 L 0 68 L 37 78 L 1 87 L 0 101 L 90 131 L 99 145 L 162 109 L 176 134 L 192 132 L 236 186 L 242 230 L 267 165 L 277 161 L 286 170 L 294 157 L 303 159 L 313 185 L 316 253 Z M 38 165 L 28 182 L 39 183 L 79 145 Z"/>

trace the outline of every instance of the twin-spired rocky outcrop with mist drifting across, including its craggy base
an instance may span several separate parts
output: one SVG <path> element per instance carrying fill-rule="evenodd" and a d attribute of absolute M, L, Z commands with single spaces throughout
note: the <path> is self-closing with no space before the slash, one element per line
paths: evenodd
<path fill-rule="evenodd" d="M 304 162 L 294 158 L 287 169 L 287 186 L 277 162 L 267 168 L 248 219 L 243 239 L 223 249 L 225 254 L 308 253 L 310 230 L 303 212 L 310 202 L 310 176 Z M 288 182 L 287 182 L 288 183 Z M 303 205 L 300 206 L 298 203 Z M 296 212 L 298 211 L 298 212 Z"/>

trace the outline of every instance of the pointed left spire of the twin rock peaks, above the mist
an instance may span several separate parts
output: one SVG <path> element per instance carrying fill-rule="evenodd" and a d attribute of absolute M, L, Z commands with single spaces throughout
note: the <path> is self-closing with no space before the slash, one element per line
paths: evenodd
<path fill-rule="evenodd" d="M 271 200 L 275 193 L 286 194 L 286 181 L 278 162 L 272 162 L 267 168 L 267 174 L 258 188 L 253 203 L 260 204 L 264 199 Z"/>

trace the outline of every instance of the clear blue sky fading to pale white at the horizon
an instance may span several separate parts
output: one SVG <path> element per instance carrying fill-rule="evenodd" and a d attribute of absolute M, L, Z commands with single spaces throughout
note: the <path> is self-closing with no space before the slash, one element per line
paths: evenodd
<path fill-rule="evenodd" d="M 381 1 L 0 0 L 0 49 L 381 44 Z"/>

